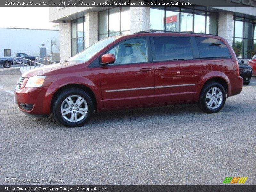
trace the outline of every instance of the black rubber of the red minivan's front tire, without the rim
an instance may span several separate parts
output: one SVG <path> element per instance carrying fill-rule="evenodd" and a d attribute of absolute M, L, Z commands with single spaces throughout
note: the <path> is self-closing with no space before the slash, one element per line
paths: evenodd
<path fill-rule="evenodd" d="M 71 95 L 78 95 L 84 98 L 84 100 L 87 102 L 88 105 L 88 111 L 86 116 L 78 121 L 78 122 L 69 122 L 67 121 L 61 114 L 60 108 L 63 100 L 65 100 L 68 96 Z M 83 124 L 85 124 L 87 121 L 89 121 L 90 117 L 92 116 L 93 113 L 93 102 L 91 97 L 84 92 L 82 89 L 78 88 L 70 88 L 64 92 L 61 92 L 57 97 L 53 105 L 53 115 L 59 121 L 62 125 L 66 127 L 78 127 Z"/>

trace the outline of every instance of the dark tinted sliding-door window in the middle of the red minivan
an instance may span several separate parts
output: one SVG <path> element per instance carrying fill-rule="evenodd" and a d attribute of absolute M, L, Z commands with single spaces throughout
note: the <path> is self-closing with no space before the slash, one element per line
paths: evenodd
<path fill-rule="evenodd" d="M 153 37 L 156 61 L 193 59 L 189 37 Z"/>

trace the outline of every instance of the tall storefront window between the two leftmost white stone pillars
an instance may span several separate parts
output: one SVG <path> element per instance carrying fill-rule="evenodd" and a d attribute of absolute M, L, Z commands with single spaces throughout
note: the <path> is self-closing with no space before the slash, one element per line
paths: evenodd
<path fill-rule="evenodd" d="M 85 17 L 71 20 L 71 56 L 85 49 Z"/>

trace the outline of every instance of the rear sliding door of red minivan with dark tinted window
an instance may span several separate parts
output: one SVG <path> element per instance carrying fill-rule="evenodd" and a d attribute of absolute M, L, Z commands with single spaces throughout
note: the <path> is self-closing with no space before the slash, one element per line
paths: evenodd
<path fill-rule="evenodd" d="M 154 43 L 155 101 L 194 100 L 202 75 L 201 60 L 193 60 L 189 37 L 152 37 Z"/>

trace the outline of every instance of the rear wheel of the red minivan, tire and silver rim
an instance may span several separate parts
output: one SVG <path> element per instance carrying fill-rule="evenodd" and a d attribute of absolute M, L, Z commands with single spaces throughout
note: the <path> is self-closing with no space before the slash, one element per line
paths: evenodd
<path fill-rule="evenodd" d="M 225 102 L 226 92 L 223 86 L 217 82 L 209 82 L 201 91 L 198 107 L 206 113 L 217 113 Z"/>

